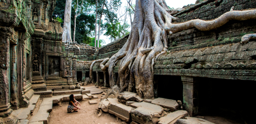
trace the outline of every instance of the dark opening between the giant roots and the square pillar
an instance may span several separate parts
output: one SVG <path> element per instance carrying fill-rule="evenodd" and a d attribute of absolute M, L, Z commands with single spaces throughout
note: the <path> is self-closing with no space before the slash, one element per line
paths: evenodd
<path fill-rule="evenodd" d="M 154 88 L 157 86 L 157 97 L 181 100 L 183 103 L 183 84 L 181 76 L 155 75 Z"/>

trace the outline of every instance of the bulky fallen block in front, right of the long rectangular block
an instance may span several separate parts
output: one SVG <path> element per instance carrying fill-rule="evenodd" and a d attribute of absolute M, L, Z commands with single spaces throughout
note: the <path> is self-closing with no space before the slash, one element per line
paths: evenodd
<path fill-rule="evenodd" d="M 132 121 L 139 124 L 157 124 L 157 120 L 161 117 L 157 112 L 138 107 L 130 112 Z"/>

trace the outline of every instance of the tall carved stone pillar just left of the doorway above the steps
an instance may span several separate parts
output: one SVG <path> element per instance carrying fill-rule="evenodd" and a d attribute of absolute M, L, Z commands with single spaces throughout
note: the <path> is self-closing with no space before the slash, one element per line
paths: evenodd
<path fill-rule="evenodd" d="M 43 36 L 44 31 L 42 29 L 35 29 L 34 34 L 31 39 L 31 48 L 32 48 L 32 56 L 31 56 L 31 65 L 32 65 L 32 89 L 34 91 L 46 91 L 46 85 L 44 84 L 44 80 L 42 77 L 42 60 L 44 58 L 42 56 L 43 52 Z"/>

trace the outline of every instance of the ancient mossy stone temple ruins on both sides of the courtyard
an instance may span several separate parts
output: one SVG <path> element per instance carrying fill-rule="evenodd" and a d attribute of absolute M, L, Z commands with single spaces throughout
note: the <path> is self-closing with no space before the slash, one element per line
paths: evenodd
<path fill-rule="evenodd" d="M 133 124 L 153 124 L 145 120 L 159 119 L 142 118 L 142 111 L 163 117 L 167 109 L 190 117 L 214 113 L 251 122 L 253 114 L 243 107 L 253 99 L 251 84 L 256 81 L 256 0 L 197 0 L 184 6 L 172 15 L 179 18 L 172 21 L 174 26 L 194 19 L 215 20 L 237 10 L 254 16 L 240 20 L 234 16 L 211 30 L 200 30 L 200 26 L 168 30 L 165 51 L 150 62 L 146 59 L 150 51 L 141 54 L 150 68 L 141 66 L 144 61 L 136 60 L 139 55 L 122 64 L 128 50 L 116 55 L 127 45 L 129 35 L 101 48 L 62 42 L 63 28 L 52 19 L 55 4 L 56 0 L 0 0 L 0 124 L 48 124 L 52 105 L 69 101 L 67 95 L 82 100 L 82 94 L 102 93 L 80 86 L 88 83 L 109 88 L 104 112 L 126 113 L 119 118 Z M 135 61 L 140 70 L 129 74 Z M 143 77 L 146 69 L 152 74 L 148 78 Z M 146 110 L 140 106 L 147 106 Z M 183 119 L 178 122 L 187 124 Z"/>

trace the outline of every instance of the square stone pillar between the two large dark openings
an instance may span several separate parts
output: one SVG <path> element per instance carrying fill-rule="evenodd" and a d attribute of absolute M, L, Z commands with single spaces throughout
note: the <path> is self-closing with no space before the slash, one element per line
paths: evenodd
<path fill-rule="evenodd" d="M 181 76 L 183 82 L 184 109 L 190 116 L 198 113 L 198 80 L 195 77 Z"/>

